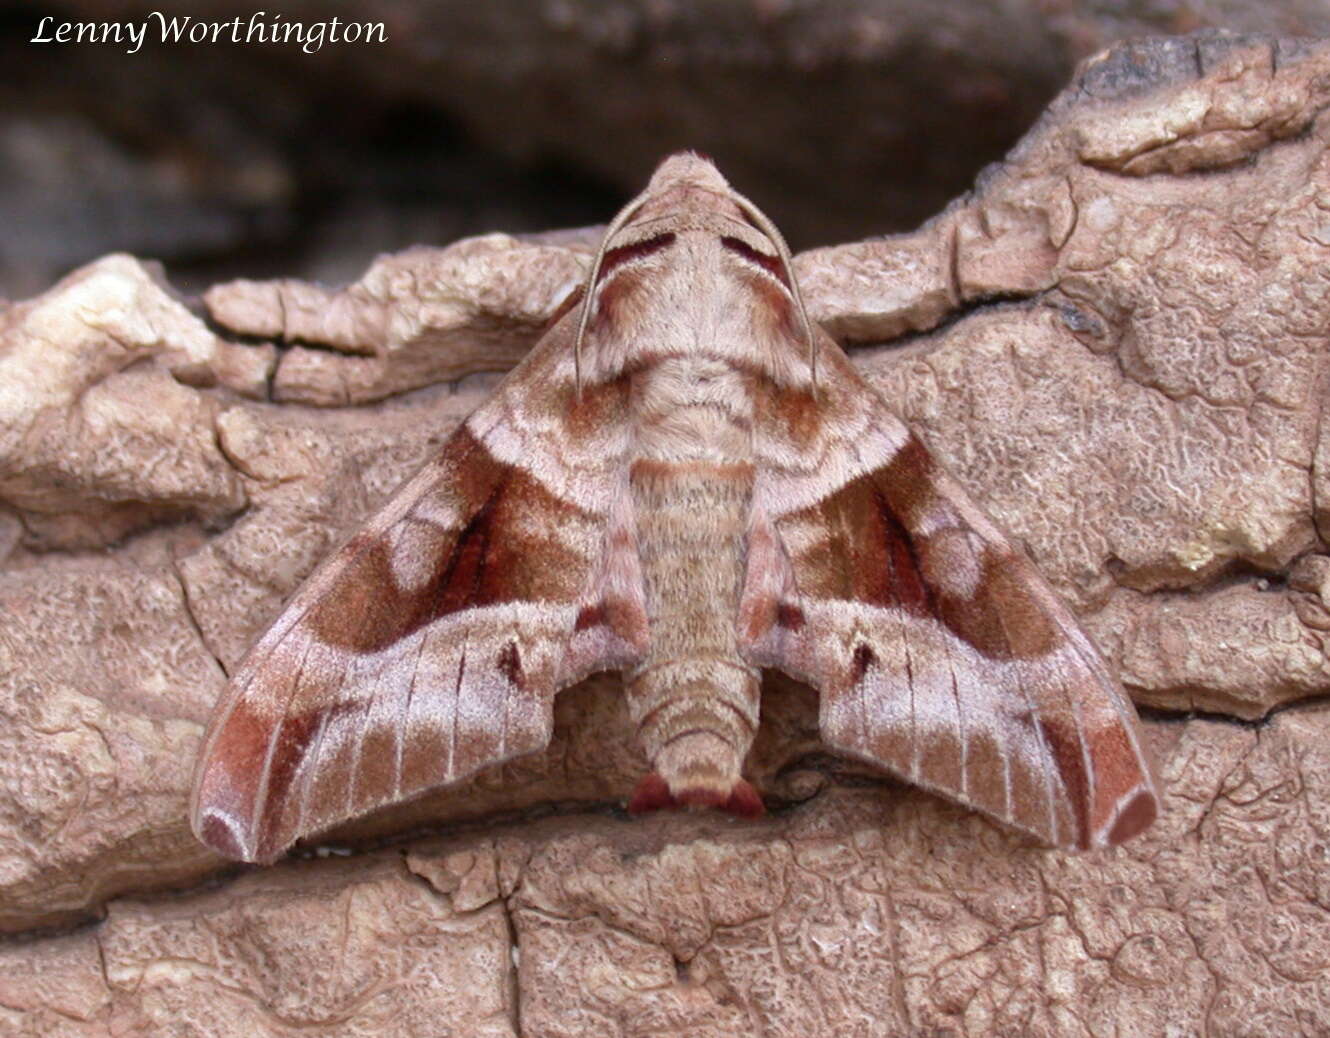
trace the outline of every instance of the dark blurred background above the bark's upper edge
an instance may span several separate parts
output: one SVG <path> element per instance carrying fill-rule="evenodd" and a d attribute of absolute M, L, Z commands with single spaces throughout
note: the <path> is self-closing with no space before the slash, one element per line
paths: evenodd
<path fill-rule="evenodd" d="M 112 250 L 185 291 L 342 283 L 407 245 L 604 222 L 681 148 L 795 249 L 903 230 L 1115 40 L 1330 36 L 1326 0 L 166 3 L 0 3 L 0 295 Z M 387 41 L 33 43 L 153 11 Z"/>

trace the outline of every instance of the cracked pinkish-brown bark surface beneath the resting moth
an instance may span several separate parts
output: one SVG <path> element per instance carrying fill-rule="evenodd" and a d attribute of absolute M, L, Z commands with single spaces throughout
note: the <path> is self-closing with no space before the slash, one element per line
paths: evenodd
<path fill-rule="evenodd" d="M 749 769 L 790 806 L 626 820 L 601 677 L 547 753 L 335 834 L 355 853 L 222 872 L 185 800 L 225 671 L 593 236 L 218 285 L 211 326 L 128 257 L 0 310 L 0 1033 L 1325 1030 L 1327 104 L 1323 44 L 1116 48 L 918 232 L 797 257 L 1160 708 L 1164 814 L 1113 853 L 826 757 L 791 683 Z"/>

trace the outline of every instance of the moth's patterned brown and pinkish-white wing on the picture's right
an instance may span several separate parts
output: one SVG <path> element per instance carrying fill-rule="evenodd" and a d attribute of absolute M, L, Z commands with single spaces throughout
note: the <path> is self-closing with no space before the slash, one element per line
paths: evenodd
<path fill-rule="evenodd" d="M 830 341 L 817 394 L 761 383 L 739 609 L 818 688 L 829 745 L 1037 838 L 1154 818 L 1136 713 L 1067 607 Z"/>

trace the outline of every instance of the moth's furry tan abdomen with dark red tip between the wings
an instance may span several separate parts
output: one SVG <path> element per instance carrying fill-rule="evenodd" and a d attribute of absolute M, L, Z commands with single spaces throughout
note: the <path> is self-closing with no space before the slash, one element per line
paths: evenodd
<path fill-rule="evenodd" d="M 739 771 L 757 731 L 759 673 L 735 632 L 751 466 L 640 459 L 632 486 L 652 648 L 626 675 L 626 695 L 654 768 L 632 806 L 758 813 Z"/>

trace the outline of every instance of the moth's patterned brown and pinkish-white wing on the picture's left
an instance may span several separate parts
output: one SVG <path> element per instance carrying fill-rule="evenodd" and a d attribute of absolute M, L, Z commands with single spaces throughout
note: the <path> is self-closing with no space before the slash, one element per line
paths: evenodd
<path fill-rule="evenodd" d="M 645 639 L 625 410 L 561 323 L 297 592 L 205 737 L 192 822 L 230 857 L 544 748 L 555 693 Z"/>

